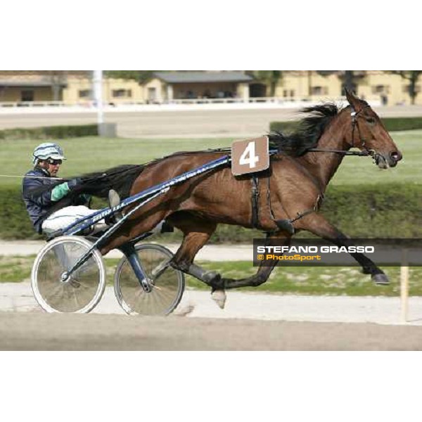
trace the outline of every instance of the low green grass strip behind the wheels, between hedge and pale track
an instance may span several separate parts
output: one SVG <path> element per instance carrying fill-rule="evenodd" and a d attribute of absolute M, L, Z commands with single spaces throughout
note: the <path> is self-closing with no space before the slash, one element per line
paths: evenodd
<path fill-rule="evenodd" d="M 29 281 L 34 256 L 0 257 L 0 281 L 17 283 Z M 117 259 L 106 259 L 108 286 L 113 285 Z M 207 269 L 217 271 L 228 278 L 241 279 L 255 274 L 256 267 L 250 262 L 199 262 Z M 349 296 L 398 296 L 399 267 L 385 267 L 390 277 L 389 286 L 375 286 L 370 276 L 362 274 L 358 267 L 277 267 L 269 280 L 258 288 L 237 290 L 256 293 L 281 293 L 300 295 L 349 295 Z M 422 296 L 422 267 L 412 267 L 409 276 L 410 295 Z M 204 283 L 186 276 L 186 288 L 210 290 Z"/>

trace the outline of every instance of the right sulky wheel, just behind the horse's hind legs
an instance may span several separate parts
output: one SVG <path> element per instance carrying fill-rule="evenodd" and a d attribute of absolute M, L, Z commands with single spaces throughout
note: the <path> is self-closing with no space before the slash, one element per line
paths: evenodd
<path fill-rule="evenodd" d="M 139 283 L 126 257 L 115 271 L 115 295 L 124 312 L 132 315 L 167 315 L 181 300 L 184 274 L 170 266 L 172 252 L 162 245 L 135 247 L 143 272 L 151 284 L 146 292 Z"/>

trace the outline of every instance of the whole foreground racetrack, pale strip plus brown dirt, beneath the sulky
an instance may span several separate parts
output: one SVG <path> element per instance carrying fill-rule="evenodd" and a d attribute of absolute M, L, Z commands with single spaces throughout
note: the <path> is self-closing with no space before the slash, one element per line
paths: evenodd
<path fill-rule="evenodd" d="M 422 350 L 421 300 L 409 300 L 412 326 L 393 325 L 398 298 L 234 291 L 224 310 L 209 292 L 186 290 L 179 316 L 142 318 L 122 315 L 108 286 L 98 313 L 51 315 L 41 312 L 29 282 L 1 283 L 0 350 Z"/>

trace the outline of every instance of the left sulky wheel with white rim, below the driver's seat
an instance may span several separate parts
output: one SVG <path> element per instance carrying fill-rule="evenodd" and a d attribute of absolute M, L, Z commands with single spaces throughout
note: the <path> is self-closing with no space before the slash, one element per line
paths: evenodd
<path fill-rule="evenodd" d="M 41 249 L 32 267 L 31 283 L 35 299 L 44 310 L 86 313 L 101 300 L 106 269 L 97 249 L 68 280 L 62 278 L 91 246 L 86 238 L 61 236 Z"/>

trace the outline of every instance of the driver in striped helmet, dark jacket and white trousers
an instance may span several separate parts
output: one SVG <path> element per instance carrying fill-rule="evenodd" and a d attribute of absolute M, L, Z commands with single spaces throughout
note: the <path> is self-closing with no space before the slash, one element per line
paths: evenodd
<path fill-rule="evenodd" d="M 63 149 L 57 143 L 41 143 L 34 149 L 32 163 L 34 169 L 25 174 L 22 196 L 34 229 L 39 234 L 50 234 L 72 224 L 96 210 L 89 208 L 90 196 L 79 195 L 71 206 L 65 206 L 53 212 L 53 206 L 70 193 L 80 183 L 80 179 L 71 179 L 58 184 L 51 191 L 34 194 L 34 189 L 57 182 L 60 165 L 65 160 Z M 116 193 L 117 195 L 117 193 Z M 57 209 L 57 208 L 54 208 Z M 105 226 L 105 224 L 102 224 Z"/>

